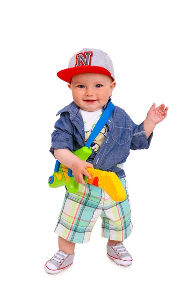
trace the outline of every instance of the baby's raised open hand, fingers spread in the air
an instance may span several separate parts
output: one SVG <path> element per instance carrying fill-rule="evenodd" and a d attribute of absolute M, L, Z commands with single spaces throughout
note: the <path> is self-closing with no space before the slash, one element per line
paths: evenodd
<path fill-rule="evenodd" d="M 147 113 L 146 119 L 156 125 L 166 118 L 168 107 L 165 108 L 164 104 L 161 104 L 156 108 L 155 106 L 155 103 L 153 103 L 152 107 Z"/>

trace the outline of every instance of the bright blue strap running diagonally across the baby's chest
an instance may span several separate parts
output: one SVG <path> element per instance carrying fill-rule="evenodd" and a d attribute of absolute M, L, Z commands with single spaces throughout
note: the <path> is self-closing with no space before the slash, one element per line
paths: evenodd
<path fill-rule="evenodd" d="M 112 111 L 114 110 L 114 105 L 112 102 L 110 102 L 107 106 L 107 108 L 105 109 L 105 111 L 103 112 L 103 114 L 101 115 L 101 117 L 99 118 L 96 126 L 94 127 L 94 129 L 92 130 L 85 146 L 87 146 L 88 148 L 90 148 L 91 144 L 93 143 L 93 141 L 95 140 L 95 138 L 97 137 L 97 135 L 99 134 L 99 132 L 101 131 L 101 129 L 103 128 L 103 126 L 108 122 L 108 119 L 110 118 Z"/>

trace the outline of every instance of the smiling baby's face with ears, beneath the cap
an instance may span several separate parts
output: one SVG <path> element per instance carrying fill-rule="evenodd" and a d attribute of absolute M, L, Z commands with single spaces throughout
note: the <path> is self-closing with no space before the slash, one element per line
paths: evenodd
<path fill-rule="evenodd" d="M 112 96 L 116 82 L 108 75 L 80 73 L 75 75 L 68 87 L 78 107 L 93 112 L 102 108 Z"/>

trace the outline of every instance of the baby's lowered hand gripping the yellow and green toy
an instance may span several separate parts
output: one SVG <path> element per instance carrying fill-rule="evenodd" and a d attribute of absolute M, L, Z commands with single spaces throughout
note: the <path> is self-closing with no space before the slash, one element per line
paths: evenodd
<path fill-rule="evenodd" d="M 86 170 L 88 167 L 93 168 L 94 166 L 91 163 L 85 162 L 79 158 L 73 162 L 72 171 L 76 182 L 85 185 L 86 182 L 84 181 L 83 175 L 87 176 L 89 179 L 91 178 L 91 175 Z"/>

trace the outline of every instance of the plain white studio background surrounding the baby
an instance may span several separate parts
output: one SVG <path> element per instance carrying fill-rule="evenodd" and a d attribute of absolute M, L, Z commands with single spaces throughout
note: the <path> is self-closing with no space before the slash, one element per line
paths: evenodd
<path fill-rule="evenodd" d="M 188 292 L 195 286 L 195 2 L 4 1 L 0 4 L 0 286 L 2 292 Z M 148 150 L 126 163 L 133 265 L 106 255 L 98 220 L 71 268 L 43 270 L 64 189 L 49 188 L 59 109 L 72 101 L 57 72 L 83 47 L 113 60 L 112 101 L 137 124 L 153 102 L 169 106 Z"/>

